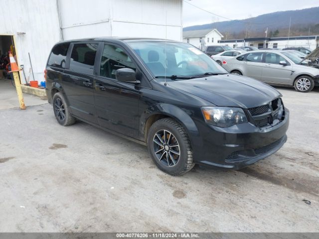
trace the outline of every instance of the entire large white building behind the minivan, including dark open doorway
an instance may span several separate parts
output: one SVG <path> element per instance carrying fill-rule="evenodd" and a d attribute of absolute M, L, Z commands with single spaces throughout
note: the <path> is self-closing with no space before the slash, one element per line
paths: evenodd
<path fill-rule="evenodd" d="M 61 40 L 128 36 L 182 39 L 182 0 L 9 0 L 0 10 L 0 51 L 11 48 L 26 79 L 44 80 L 52 46 Z M 20 72 L 21 83 L 25 83 Z"/>

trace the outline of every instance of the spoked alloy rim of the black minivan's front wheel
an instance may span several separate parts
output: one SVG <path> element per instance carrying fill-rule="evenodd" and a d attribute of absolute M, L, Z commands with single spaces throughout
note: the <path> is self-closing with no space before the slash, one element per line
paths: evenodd
<path fill-rule="evenodd" d="M 165 166 L 175 166 L 180 157 L 180 148 L 176 137 L 168 130 L 157 131 L 153 138 L 154 153 Z"/>

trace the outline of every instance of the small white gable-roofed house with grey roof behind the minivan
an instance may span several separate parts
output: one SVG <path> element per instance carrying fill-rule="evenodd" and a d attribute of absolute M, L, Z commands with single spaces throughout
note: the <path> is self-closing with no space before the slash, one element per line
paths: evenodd
<path fill-rule="evenodd" d="M 183 31 L 183 41 L 202 50 L 205 46 L 218 44 L 222 37 L 224 36 L 217 29 Z"/>

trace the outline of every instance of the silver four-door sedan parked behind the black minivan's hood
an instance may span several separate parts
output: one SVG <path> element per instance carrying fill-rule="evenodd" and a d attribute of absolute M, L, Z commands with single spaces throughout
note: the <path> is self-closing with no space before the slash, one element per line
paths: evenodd
<path fill-rule="evenodd" d="M 229 59 L 223 67 L 230 73 L 270 85 L 294 86 L 299 92 L 309 92 L 319 86 L 319 69 L 287 51 L 250 51 Z"/>

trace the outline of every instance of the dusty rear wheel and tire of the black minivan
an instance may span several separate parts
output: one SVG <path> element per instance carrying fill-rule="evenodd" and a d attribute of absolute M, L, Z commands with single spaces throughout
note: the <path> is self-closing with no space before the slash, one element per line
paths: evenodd
<path fill-rule="evenodd" d="M 60 92 L 54 94 L 52 102 L 55 119 L 59 124 L 68 126 L 75 123 L 76 119 L 70 115 L 69 107 Z"/>

